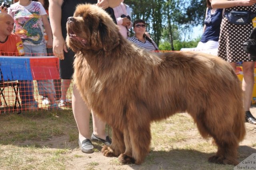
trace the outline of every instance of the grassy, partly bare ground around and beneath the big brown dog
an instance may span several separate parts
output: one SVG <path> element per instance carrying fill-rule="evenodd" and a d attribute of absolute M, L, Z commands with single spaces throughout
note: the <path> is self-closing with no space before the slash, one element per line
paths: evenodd
<path fill-rule="evenodd" d="M 203 140 L 187 114 L 176 114 L 151 126 L 151 150 L 142 165 L 104 163 L 101 144 L 94 154 L 78 150 L 78 130 L 71 110 L 0 114 L 0 169 L 4 170 L 231 170 L 234 166 L 207 162 L 216 146 Z M 92 122 L 90 122 L 92 124 Z M 92 126 L 91 126 L 92 127 Z M 90 129 L 92 131 L 92 129 Z M 106 130 L 108 132 L 108 129 Z M 255 145 L 255 144 L 253 144 Z M 239 159 L 243 160 L 247 156 Z M 81 166 L 78 166 L 79 164 Z M 82 163 L 81 163 L 82 162 Z M 78 165 L 77 165 L 78 164 Z M 79 168 L 77 168 L 79 167 Z"/>

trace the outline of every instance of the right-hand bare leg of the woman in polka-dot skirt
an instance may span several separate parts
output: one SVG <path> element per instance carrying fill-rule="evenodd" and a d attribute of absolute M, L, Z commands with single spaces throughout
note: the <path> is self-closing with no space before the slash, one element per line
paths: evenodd
<path fill-rule="evenodd" d="M 244 92 L 244 110 L 250 110 L 252 101 L 252 91 L 254 86 L 254 62 L 243 63 L 244 78 L 242 81 L 242 90 Z"/>

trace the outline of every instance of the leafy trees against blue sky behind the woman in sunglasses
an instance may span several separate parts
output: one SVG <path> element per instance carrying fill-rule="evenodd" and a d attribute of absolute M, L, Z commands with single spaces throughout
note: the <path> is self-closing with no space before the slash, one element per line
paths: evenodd
<path fill-rule="evenodd" d="M 145 20 L 156 44 L 164 39 L 172 50 L 175 50 L 174 40 L 180 38 L 174 31 L 182 34 L 202 24 L 206 9 L 205 0 L 126 0 L 125 3 L 132 9 L 132 20 Z M 164 33 L 166 30 L 168 34 Z"/>

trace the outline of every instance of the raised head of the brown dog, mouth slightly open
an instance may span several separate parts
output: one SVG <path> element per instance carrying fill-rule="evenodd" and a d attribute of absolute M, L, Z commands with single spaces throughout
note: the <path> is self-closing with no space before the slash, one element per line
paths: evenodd
<path fill-rule="evenodd" d="M 66 42 L 74 52 L 83 50 L 109 51 L 119 44 L 118 27 L 103 9 L 80 4 L 74 17 L 69 17 Z"/>

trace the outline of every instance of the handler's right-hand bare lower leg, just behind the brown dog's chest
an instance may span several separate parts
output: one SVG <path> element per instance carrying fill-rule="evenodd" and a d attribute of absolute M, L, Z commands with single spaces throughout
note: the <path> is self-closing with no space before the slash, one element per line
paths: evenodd
<path fill-rule="evenodd" d="M 106 122 L 102 122 L 92 111 L 93 134 L 101 139 L 106 139 L 105 127 Z"/>

